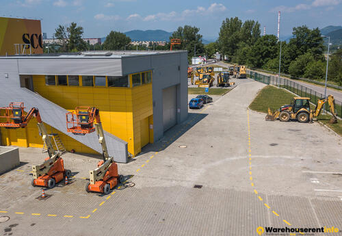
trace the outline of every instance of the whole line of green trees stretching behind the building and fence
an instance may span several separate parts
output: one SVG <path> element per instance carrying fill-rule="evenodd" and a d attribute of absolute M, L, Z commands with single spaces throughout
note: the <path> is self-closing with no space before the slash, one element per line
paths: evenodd
<path fill-rule="evenodd" d="M 110 31 L 103 44 L 90 45 L 82 39 L 83 27 L 76 23 L 59 25 L 55 38 L 60 47 L 56 50 L 170 50 L 170 42 L 165 46 L 150 44 L 148 47 L 131 45 L 131 38 L 119 31 Z M 189 62 L 196 55 L 213 56 L 216 52 L 226 55 L 228 62 L 243 64 L 251 68 L 262 68 L 278 72 L 281 47 L 281 72 L 292 77 L 324 79 L 326 73 L 326 47 L 318 28 L 309 29 L 306 25 L 294 27 L 289 42 L 280 41 L 274 35 L 261 36 L 258 21 L 241 21 L 238 17 L 226 18 L 220 27 L 216 42 L 202 43 L 200 28 L 185 25 L 172 33 L 172 38 L 181 39 L 174 50 L 185 50 Z M 45 50 L 45 49 L 44 49 Z M 328 79 L 342 86 L 342 49 L 330 56 Z"/>

